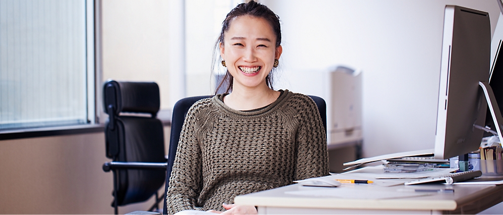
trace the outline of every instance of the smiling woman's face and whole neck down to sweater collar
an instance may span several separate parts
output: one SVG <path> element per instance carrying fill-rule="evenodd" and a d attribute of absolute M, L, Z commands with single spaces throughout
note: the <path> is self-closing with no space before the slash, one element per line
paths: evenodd
<path fill-rule="evenodd" d="M 272 103 L 280 92 L 272 89 L 270 73 L 282 48 L 276 45 L 271 25 L 264 18 L 240 16 L 232 20 L 225 35 L 220 42 L 220 55 L 227 75 L 232 77 L 233 93 L 225 96 L 224 102 L 236 110 L 252 110 Z M 257 92 L 247 93 L 255 101 L 243 97 L 243 92 L 250 91 Z"/>

